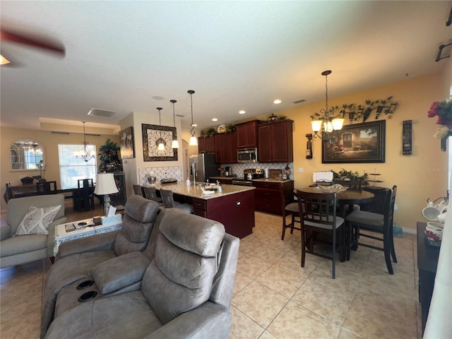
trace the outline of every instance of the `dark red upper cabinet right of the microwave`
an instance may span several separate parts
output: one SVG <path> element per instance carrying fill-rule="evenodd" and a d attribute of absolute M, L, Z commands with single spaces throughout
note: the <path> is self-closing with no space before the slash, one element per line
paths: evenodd
<path fill-rule="evenodd" d="M 292 124 L 292 120 L 285 119 L 257 126 L 259 162 L 294 160 Z"/>

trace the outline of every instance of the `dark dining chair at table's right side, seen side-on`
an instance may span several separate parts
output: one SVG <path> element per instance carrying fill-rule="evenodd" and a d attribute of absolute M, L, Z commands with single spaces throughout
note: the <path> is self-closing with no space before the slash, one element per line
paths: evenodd
<path fill-rule="evenodd" d="M 355 210 L 345 218 L 347 222 L 347 230 L 350 234 L 347 234 L 347 260 L 350 260 L 350 248 L 364 246 L 370 249 L 377 249 L 384 252 L 384 258 L 386 261 L 386 267 L 389 274 L 394 274 L 393 266 L 391 263 L 391 257 L 394 263 L 397 263 L 396 249 L 394 249 L 394 236 L 393 236 L 393 219 L 394 219 L 394 203 L 396 203 L 397 186 L 394 185 L 392 189 L 388 189 L 384 198 L 384 213 L 372 213 L 365 210 Z M 382 237 L 376 237 L 372 234 L 361 232 L 361 230 L 367 230 L 382 234 Z M 375 246 L 373 244 L 365 244 L 359 242 L 359 237 L 367 237 L 370 239 L 376 239 L 383 242 L 383 247 Z"/>

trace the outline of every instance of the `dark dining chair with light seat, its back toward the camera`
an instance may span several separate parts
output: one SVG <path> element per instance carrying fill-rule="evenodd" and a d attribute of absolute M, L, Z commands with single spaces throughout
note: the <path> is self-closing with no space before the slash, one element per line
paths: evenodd
<path fill-rule="evenodd" d="M 337 252 L 343 256 L 344 219 L 336 215 L 337 194 L 308 193 L 297 190 L 302 225 L 302 267 L 306 254 L 331 259 L 332 277 L 336 278 L 335 263 Z M 322 237 L 323 235 L 323 237 Z M 324 251 L 316 251 L 319 244 L 331 246 L 331 256 Z"/>

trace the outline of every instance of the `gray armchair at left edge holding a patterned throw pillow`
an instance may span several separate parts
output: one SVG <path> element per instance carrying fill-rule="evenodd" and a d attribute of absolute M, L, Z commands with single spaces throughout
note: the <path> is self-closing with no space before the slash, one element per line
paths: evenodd
<path fill-rule="evenodd" d="M 49 234 L 29 234 L 13 237 L 30 206 L 60 206 Z M 55 227 L 68 222 L 64 216 L 64 195 L 27 196 L 8 201 L 6 224 L 0 226 L 0 268 L 22 265 L 54 256 Z"/>

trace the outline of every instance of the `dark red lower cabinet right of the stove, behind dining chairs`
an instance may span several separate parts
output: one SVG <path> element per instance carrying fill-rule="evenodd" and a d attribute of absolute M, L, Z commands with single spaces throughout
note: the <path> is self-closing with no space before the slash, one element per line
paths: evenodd
<path fill-rule="evenodd" d="M 293 180 L 287 182 L 264 182 L 253 181 L 254 191 L 254 208 L 261 212 L 283 215 L 283 199 L 291 201 L 294 191 Z"/>

